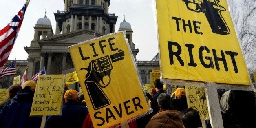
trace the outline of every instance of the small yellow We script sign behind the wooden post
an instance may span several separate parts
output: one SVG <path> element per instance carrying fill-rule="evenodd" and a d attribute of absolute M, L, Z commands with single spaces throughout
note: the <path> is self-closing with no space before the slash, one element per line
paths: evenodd
<path fill-rule="evenodd" d="M 206 94 L 203 87 L 185 86 L 188 108 L 199 112 L 201 120 L 209 119 Z"/>

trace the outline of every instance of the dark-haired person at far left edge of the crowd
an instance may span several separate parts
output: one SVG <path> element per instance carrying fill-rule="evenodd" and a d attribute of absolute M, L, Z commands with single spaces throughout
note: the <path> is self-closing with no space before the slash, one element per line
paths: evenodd
<path fill-rule="evenodd" d="M 0 103 L 0 111 L 2 108 L 6 105 L 9 105 L 11 103 L 11 99 L 16 95 L 18 91 L 20 91 L 22 87 L 19 84 L 13 84 L 9 87 L 8 92 L 9 92 L 9 98 L 4 100 L 3 102 Z"/>

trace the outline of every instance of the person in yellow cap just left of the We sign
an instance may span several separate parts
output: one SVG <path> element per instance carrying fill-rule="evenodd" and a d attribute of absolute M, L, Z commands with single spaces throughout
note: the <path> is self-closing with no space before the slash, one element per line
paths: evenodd
<path fill-rule="evenodd" d="M 174 95 L 174 99 L 172 99 L 172 107 L 175 110 L 182 111 L 188 108 L 186 92 L 184 88 L 177 88 L 176 91 L 172 93 Z M 172 97 L 171 95 L 171 97 Z"/>

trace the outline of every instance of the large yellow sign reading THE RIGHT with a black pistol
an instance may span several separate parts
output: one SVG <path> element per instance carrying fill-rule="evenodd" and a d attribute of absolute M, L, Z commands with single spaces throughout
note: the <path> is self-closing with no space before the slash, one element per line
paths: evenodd
<path fill-rule="evenodd" d="M 226 0 L 156 0 L 162 77 L 249 86 Z"/>

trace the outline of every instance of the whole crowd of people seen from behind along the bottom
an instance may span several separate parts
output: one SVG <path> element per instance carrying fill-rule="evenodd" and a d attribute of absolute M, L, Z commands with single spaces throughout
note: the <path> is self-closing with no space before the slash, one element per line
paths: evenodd
<path fill-rule="evenodd" d="M 203 128 L 199 112 L 188 108 L 185 89 L 177 88 L 171 95 L 160 79 L 154 82 L 146 97 L 153 112 L 128 123 L 130 128 Z M 9 87 L 9 98 L 0 103 L 0 128 L 40 128 L 42 116 L 29 116 L 36 82 L 28 80 L 23 87 Z M 256 126 L 256 100 L 251 91 L 218 90 L 224 128 Z M 65 84 L 61 115 L 46 117 L 45 128 L 93 128 L 83 95 Z M 206 125 L 206 127 L 211 127 Z"/>

